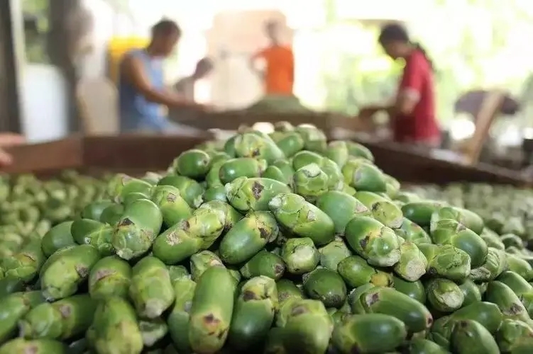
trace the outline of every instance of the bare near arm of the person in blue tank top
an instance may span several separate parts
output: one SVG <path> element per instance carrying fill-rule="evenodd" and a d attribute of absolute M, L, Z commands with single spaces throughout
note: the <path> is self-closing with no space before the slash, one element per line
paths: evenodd
<path fill-rule="evenodd" d="M 170 90 L 154 89 L 144 72 L 143 63 L 136 57 L 126 57 L 122 62 L 121 75 L 130 82 L 148 101 L 170 107 L 196 107 L 194 102 Z"/>

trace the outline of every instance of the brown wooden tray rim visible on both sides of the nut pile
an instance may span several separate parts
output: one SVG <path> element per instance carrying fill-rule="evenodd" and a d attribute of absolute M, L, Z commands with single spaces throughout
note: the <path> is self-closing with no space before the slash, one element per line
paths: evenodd
<path fill-rule="evenodd" d="M 207 136 L 119 135 L 68 137 L 43 144 L 11 149 L 15 164 L 6 173 L 54 174 L 62 169 L 80 171 L 164 171 L 175 156 L 209 139 Z M 386 173 L 404 183 L 482 182 L 530 187 L 532 181 L 516 171 L 490 165 L 435 159 L 401 144 L 375 142 L 356 137 L 374 154 Z"/>

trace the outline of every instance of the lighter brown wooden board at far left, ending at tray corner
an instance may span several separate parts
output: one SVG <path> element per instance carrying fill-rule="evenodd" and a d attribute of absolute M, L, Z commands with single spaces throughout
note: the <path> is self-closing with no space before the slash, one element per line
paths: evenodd
<path fill-rule="evenodd" d="M 13 164 L 4 173 L 39 173 L 49 170 L 76 169 L 82 166 L 82 139 L 67 137 L 54 142 L 26 144 L 7 151 L 13 156 Z"/>

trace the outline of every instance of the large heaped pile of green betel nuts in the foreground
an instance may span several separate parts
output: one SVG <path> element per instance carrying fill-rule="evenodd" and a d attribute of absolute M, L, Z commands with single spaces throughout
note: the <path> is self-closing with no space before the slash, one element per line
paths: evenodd
<path fill-rule="evenodd" d="M 533 353 L 523 246 L 361 144 L 275 128 L 116 175 L 4 258 L 0 354 Z"/>

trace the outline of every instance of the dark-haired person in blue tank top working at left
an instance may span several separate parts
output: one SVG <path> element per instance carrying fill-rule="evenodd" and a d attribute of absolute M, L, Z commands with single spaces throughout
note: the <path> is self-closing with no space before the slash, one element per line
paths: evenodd
<path fill-rule="evenodd" d="M 194 134 L 194 129 L 176 125 L 166 115 L 167 108 L 205 108 L 165 87 L 163 59 L 174 51 L 180 35 L 177 23 L 162 20 L 153 26 L 148 47 L 126 53 L 120 65 L 121 131 Z"/>

